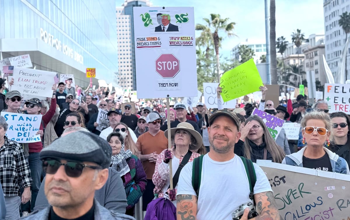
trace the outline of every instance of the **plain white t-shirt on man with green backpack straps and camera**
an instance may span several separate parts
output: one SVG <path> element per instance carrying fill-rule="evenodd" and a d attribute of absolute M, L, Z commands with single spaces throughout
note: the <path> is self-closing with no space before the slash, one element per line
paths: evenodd
<path fill-rule="evenodd" d="M 257 176 L 254 194 L 272 191 L 264 171 L 257 164 L 253 165 Z M 181 170 L 177 195 L 197 196 L 192 186 L 192 167 L 193 162 L 189 162 Z M 232 212 L 240 205 L 252 202 L 249 193 L 248 177 L 241 158 L 235 155 L 229 161 L 218 162 L 208 154 L 204 155 L 197 203 L 198 220 L 231 220 Z"/>

